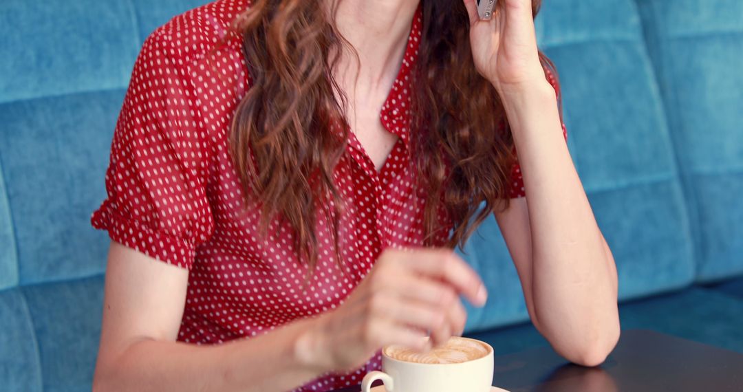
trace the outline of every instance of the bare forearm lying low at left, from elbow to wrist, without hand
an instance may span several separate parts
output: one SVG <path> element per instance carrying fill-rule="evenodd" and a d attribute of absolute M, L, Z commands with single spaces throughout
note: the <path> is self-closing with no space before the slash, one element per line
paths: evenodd
<path fill-rule="evenodd" d="M 296 353 L 311 330 L 296 321 L 218 345 L 140 340 L 115 359 L 100 360 L 96 391 L 288 391 L 324 373 Z"/>

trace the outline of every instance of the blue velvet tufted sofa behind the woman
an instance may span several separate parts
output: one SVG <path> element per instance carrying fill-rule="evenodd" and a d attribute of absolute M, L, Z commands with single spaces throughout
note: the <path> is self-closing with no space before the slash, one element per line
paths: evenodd
<path fill-rule="evenodd" d="M 89 391 L 114 123 L 146 36 L 204 0 L 0 2 L 0 391 Z M 620 275 L 624 328 L 743 353 L 743 2 L 546 0 L 568 146 Z M 547 344 L 494 220 L 467 331 Z"/>

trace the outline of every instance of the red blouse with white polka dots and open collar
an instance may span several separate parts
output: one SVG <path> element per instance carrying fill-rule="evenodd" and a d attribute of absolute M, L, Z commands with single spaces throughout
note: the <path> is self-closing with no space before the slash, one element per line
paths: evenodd
<path fill-rule="evenodd" d="M 425 195 L 412 186 L 406 85 L 421 39 L 421 7 L 380 112 L 383 126 L 399 137 L 397 144 L 377 172 L 351 134 L 334 171 L 338 189 L 352 206 L 339 233 L 345 271 L 332 261 L 329 228 L 319 219 L 317 270 L 305 287 L 307 271 L 296 262 L 291 230 L 274 220 L 272 237 L 259 241 L 254 235 L 259 209 L 240 214 L 244 195 L 227 135 L 250 86 L 241 37 L 230 34 L 228 45 L 207 55 L 247 6 L 247 0 L 213 1 L 175 16 L 147 37 L 111 143 L 108 197 L 91 217 L 92 225 L 107 230 L 113 241 L 189 270 L 181 342 L 250 339 L 332 310 L 383 249 L 422 244 Z M 521 196 L 516 164 L 510 197 Z M 450 225 L 446 217 L 441 223 Z M 377 353 L 362 368 L 323 375 L 297 391 L 354 385 L 379 368 Z"/>

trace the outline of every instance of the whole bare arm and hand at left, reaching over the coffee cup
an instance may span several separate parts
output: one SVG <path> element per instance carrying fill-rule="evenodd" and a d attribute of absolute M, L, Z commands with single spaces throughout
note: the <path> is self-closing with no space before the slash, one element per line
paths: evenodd
<path fill-rule="evenodd" d="M 250 339 L 175 342 L 188 271 L 111 242 L 94 391 L 288 391 L 360 366 L 386 344 L 426 350 L 460 334 L 458 294 L 484 285 L 453 252 L 389 249 L 336 310 Z M 429 346 L 427 346 L 429 347 Z"/>

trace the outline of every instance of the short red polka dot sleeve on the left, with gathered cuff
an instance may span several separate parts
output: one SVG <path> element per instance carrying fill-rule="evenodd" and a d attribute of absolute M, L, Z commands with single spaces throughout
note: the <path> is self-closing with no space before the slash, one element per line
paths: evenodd
<path fill-rule="evenodd" d="M 112 240 L 190 269 L 214 221 L 210 148 L 192 83 L 163 30 L 145 40 L 114 129 L 106 194 L 91 224 Z"/>

